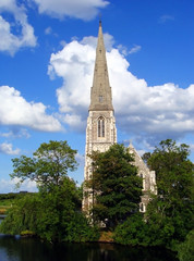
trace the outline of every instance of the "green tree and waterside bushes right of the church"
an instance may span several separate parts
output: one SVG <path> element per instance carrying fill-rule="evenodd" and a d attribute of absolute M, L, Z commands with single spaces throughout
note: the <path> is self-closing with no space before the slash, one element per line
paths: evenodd
<path fill-rule="evenodd" d="M 158 195 L 153 196 L 144 217 L 134 215 L 116 228 L 116 241 L 175 250 L 185 239 L 193 228 L 193 163 L 189 152 L 186 145 L 167 139 L 146 154 L 147 164 L 156 171 Z"/>

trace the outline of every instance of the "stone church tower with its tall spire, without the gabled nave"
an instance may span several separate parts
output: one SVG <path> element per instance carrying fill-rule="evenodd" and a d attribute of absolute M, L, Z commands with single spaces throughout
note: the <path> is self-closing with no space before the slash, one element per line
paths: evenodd
<path fill-rule="evenodd" d="M 117 142 L 116 119 L 112 105 L 112 94 L 109 84 L 108 66 L 101 21 L 99 22 L 98 44 L 96 48 L 96 62 L 93 87 L 90 88 L 90 105 L 88 109 L 85 147 L 84 181 L 92 175 L 92 160 L 88 154 L 93 151 L 104 152 Z M 93 196 L 84 197 L 83 210 L 88 211 L 93 206 Z"/>

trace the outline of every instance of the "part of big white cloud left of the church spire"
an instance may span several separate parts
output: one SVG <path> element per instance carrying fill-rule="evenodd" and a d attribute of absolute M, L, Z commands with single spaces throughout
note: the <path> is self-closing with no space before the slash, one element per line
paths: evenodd
<path fill-rule="evenodd" d="M 71 126 L 84 125 L 83 120 L 85 121 L 89 101 L 94 58 L 94 48 L 77 41 L 72 41 L 62 51 L 52 53 L 50 58 L 49 75 L 52 78 L 61 76 L 66 83 L 57 90 L 57 96 L 60 111 L 66 113 L 64 121 Z M 77 114 L 77 112 L 80 113 Z"/>

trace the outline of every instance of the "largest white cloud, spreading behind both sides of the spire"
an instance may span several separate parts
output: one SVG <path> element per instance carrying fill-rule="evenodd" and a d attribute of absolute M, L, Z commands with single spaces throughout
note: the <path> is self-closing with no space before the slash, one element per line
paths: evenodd
<path fill-rule="evenodd" d="M 112 39 L 109 37 L 109 39 Z M 95 39 L 74 40 L 52 53 L 48 73 L 62 77 L 57 90 L 63 120 L 75 129 L 85 129 L 93 84 Z M 109 42 L 111 46 L 111 42 Z M 183 89 L 173 83 L 148 86 L 130 72 L 130 63 L 118 49 L 107 52 L 117 125 L 136 137 L 178 138 L 194 132 L 194 85 Z"/>

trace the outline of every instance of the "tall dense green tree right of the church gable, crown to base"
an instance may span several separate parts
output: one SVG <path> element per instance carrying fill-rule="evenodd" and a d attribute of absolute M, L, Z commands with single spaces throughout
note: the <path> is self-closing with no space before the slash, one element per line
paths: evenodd
<path fill-rule="evenodd" d="M 153 245 L 173 247 L 192 229 L 194 165 L 189 146 L 162 140 L 147 160 L 156 171 L 158 195 L 148 204 L 146 220 Z M 155 233 L 157 231 L 157 233 Z"/>

